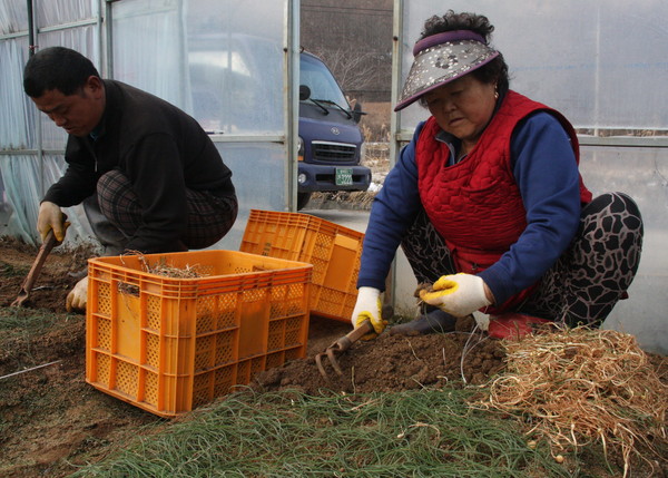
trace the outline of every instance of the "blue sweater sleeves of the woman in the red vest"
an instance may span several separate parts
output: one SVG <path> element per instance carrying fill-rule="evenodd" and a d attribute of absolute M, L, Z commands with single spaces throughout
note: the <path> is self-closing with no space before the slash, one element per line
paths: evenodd
<path fill-rule="evenodd" d="M 422 209 L 415 144 L 423 125 L 415 128 L 374 199 L 357 287 L 385 289 L 396 248 Z M 576 235 L 581 209 L 576 157 L 566 130 L 552 115 L 534 113 L 518 125 L 511 138 L 511 162 L 527 228 L 497 263 L 478 274 L 497 304 L 536 283 L 554 264 Z"/>

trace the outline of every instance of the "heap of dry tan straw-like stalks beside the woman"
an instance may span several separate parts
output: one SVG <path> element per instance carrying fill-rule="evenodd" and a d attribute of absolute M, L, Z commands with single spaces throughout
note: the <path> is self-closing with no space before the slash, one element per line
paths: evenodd
<path fill-rule="evenodd" d="M 638 447 L 659 459 L 666 445 L 668 386 L 632 335 L 612 330 L 559 329 L 504 341 L 507 372 L 473 407 L 520 418 L 528 436 L 547 439 L 552 455 L 599 441 L 621 452 L 625 476 Z M 645 458 L 647 459 L 647 458 Z"/>

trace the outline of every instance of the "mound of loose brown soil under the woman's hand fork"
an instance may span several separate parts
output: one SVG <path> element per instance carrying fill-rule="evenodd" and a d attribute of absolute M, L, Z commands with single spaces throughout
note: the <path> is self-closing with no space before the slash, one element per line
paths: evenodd
<path fill-rule="evenodd" d="M 317 329 L 334 329 L 325 319 L 313 318 L 313 335 Z M 266 390 L 299 389 L 308 394 L 323 389 L 346 393 L 411 390 L 430 386 L 461 382 L 484 383 L 503 368 L 505 353 L 498 340 L 480 333 L 471 333 L 472 323 L 461 320 L 458 330 L 429 335 L 393 335 L 383 333 L 374 340 L 355 342 L 351 349 L 337 355 L 343 375 L 323 358 L 326 378 L 315 363 L 315 355 L 332 343 L 310 340 L 308 355 L 282 368 L 267 370 L 256 378 L 257 386 Z M 351 325 L 336 326 L 344 335 Z M 463 357 L 463 358 L 462 358 Z M 465 380 L 465 381 L 464 381 Z"/>

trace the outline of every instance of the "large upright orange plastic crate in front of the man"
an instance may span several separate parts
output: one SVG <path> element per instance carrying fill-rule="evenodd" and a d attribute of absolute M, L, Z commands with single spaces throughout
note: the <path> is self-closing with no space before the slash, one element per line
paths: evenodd
<path fill-rule="evenodd" d="M 144 272 L 143 261 L 199 276 Z M 86 381 L 174 417 L 304 358 L 312 269 L 236 251 L 91 258 Z"/>

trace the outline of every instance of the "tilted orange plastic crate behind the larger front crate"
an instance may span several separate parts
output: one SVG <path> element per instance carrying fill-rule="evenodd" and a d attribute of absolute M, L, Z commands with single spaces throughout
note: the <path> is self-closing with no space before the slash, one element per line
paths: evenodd
<path fill-rule="evenodd" d="M 302 213 L 250 209 L 240 251 L 313 264 L 311 312 L 348 322 L 364 234 Z"/>

